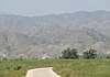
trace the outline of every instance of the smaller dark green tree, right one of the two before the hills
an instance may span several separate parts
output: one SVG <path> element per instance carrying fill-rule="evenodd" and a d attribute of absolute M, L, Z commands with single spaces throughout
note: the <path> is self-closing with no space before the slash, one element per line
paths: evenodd
<path fill-rule="evenodd" d="M 89 51 L 87 52 L 84 52 L 84 58 L 96 58 L 97 57 L 97 51 L 90 48 Z"/>

